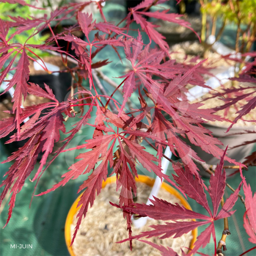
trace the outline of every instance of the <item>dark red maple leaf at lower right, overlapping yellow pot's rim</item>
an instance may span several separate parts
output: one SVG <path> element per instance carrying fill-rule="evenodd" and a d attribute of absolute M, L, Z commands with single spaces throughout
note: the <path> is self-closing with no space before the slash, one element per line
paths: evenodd
<path fill-rule="evenodd" d="M 230 195 L 230 197 L 224 203 L 221 211 L 217 213 L 219 203 L 221 201 L 221 198 L 223 197 L 225 189 L 225 170 L 223 170 L 222 172 L 224 156 L 225 152 L 220 160 L 219 165 L 215 170 L 215 174 L 211 176 L 210 185 L 208 188 L 208 192 L 213 201 L 213 213 L 211 212 L 210 207 L 207 203 L 206 194 L 203 189 L 203 182 L 201 180 L 201 177 L 197 175 L 195 176 L 194 180 L 194 177 L 191 174 L 191 172 L 187 170 L 188 167 L 185 166 L 184 172 L 180 164 L 176 164 L 174 165 L 174 171 L 178 176 L 175 176 L 173 174 L 174 179 L 180 185 L 180 188 L 184 191 L 184 193 L 186 193 L 189 197 L 195 199 L 207 210 L 209 216 L 185 209 L 183 206 L 180 206 L 178 204 L 172 204 L 162 199 L 158 199 L 156 197 L 154 197 L 154 200 L 150 200 L 152 205 L 133 203 L 129 207 L 120 207 L 119 205 L 115 205 L 112 203 L 112 205 L 119 207 L 124 211 L 127 211 L 128 213 L 138 214 L 138 217 L 148 216 L 153 219 L 174 221 L 171 223 L 166 222 L 165 225 L 152 225 L 150 227 L 152 227 L 154 230 L 142 232 L 139 235 L 132 236 L 121 242 L 125 242 L 131 239 L 140 239 L 142 237 L 151 238 L 153 236 L 157 236 L 160 239 L 169 238 L 170 236 L 172 236 L 173 238 L 177 238 L 182 236 L 184 233 L 192 231 L 196 227 L 206 225 L 209 223 L 210 225 L 205 229 L 205 231 L 203 231 L 198 236 L 197 241 L 195 242 L 195 247 L 188 254 L 192 255 L 196 253 L 201 246 L 205 247 L 209 243 L 211 235 L 213 236 L 213 240 L 215 241 L 216 245 L 214 221 L 224 217 L 229 217 L 231 214 L 234 213 L 234 211 L 230 210 L 238 198 L 237 195 L 243 182 L 242 181 L 240 183 L 240 186 L 235 190 L 235 192 Z M 191 221 L 187 221 L 188 219 L 190 219 Z M 201 221 L 192 221 L 193 219 L 200 219 Z"/>

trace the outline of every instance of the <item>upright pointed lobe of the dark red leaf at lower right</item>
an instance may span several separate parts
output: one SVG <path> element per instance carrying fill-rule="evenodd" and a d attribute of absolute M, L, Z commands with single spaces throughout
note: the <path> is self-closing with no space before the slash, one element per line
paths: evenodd
<path fill-rule="evenodd" d="M 224 195 L 226 173 L 225 173 L 225 169 L 223 169 L 223 165 L 224 165 L 224 156 L 226 152 L 227 152 L 227 147 L 226 147 L 226 150 L 224 151 L 223 156 L 221 157 L 219 164 L 215 169 L 214 174 L 211 175 L 211 178 L 210 178 L 209 194 L 213 203 L 213 216 L 217 215 L 221 198 Z M 223 169 L 223 172 L 222 172 L 222 169 Z"/>

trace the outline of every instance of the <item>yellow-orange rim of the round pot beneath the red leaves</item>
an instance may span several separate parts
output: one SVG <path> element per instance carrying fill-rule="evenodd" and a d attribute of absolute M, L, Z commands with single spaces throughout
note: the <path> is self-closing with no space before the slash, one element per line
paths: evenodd
<path fill-rule="evenodd" d="M 104 188 L 107 184 L 109 183 L 113 183 L 117 180 L 116 176 L 110 176 L 106 179 L 106 181 L 103 180 L 102 182 L 102 188 Z M 135 181 L 136 182 L 142 182 L 147 184 L 148 186 L 153 186 L 155 179 L 149 177 L 149 176 L 145 176 L 145 175 L 138 175 L 138 178 L 135 177 Z M 177 197 L 181 204 L 188 210 L 192 210 L 191 206 L 188 204 L 188 201 L 186 201 L 186 199 L 178 192 L 178 190 L 176 190 L 175 188 L 173 188 L 172 186 L 170 186 L 169 184 L 167 184 L 166 182 L 162 182 L 162 186 L 161 188 L 164 188 L 166 191 L 168 191 L 170 194 L 174 195 L 175 197 Z M 66 218 L 66 223 L 65 223 L 65 240 L 66 240 L 66 245 L 68 248 L 68 252 L 70 253 L 71 256 L 76 256 L 72 250 L 72 247 L 70 247 L 71 244 L 71 235 L 70 235 L 70 227 L 71 224 L 73 222 L 73 217 L 76 214 L 76 212 L 78 211 L 78 209 L 80 209 L 80 207 L 76 208 L 78 205 L 78 201 L 80 200 L 80 197 L 82 196 L 79 195 L 79 197 L 76 199 L 76 201 L 74 201 L 74 203 L 72 204 L 67 218 Z M 192 240 L 190 242 L 190 246 L 189 248 L 192 250 L 195 244 L 195 241 L 197 240 L 197 228 L 192 230 Z"/>

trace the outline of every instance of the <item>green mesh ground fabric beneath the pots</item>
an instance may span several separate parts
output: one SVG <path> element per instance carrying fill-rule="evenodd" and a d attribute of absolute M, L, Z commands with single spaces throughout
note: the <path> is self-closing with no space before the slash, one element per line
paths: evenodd
<path fill-rule="evenodd" d="M 115 5 L 117 8 L 117 5 Z M 124 8 L 122 6 L 118 7 L 118 10 L 113 11 L 113 6 L 106 4 L 104 8 L 106 17 L 111 17 L 112 21 L 120 20 L 120 12 L 124 14 Z M 118 15 L 118 18 L 115 18 Z M 137 29 L 138 27 L 133 27 Z M 143 34 L 142 34 L 143 35 Z M 148 43 L 144 40 L 144 43 Z M 106 51 L 102 51 L 100 58 L 108 59 L 111 54 L 111 60 L 113 59 L 113 53 L 110 48 L 106 47 Z M 125 55 L 121 54 L 124 58 Z M 95 58 L 96 61 L 96 58 Z M 121 61 L 119 61 L 116 55 L 116 61 L 110 63 L 107 67 L 103 67 L 102 71 L 109 78 L 118 77 L 122 74 L 123 66 Z M 118 79 L 113 78 L 117 82 Z M 106 87 L 107 92 L 113 92 L 113 88 L 104 82 L 102 82 Z M 121 96 L 117 92 L 117 96 Z M 133 102 L 138 102 L 137 95 L 133 94 L 131 100 Z M 92 115 L 92 120 L 93 120 Z M 74 120 L 72 120 L 74 122 Z M 72 123 L 71 123 L 72 124 Z M 73 123 L 74 124 L 74 123 Z M 69 147 L 74 147 L 75 145 L 82 144 L 84 140 L 89 139 L 92 135 L 92 128 L 88 127 L 82 129 L 80 133 L 71 141 Z M 151 147 L 146 146 L 146 150 L 151 154 L 155 154 Z M 53 164 L 48 168 L 48 170 L 43 174 L 35 194 L 43 192 L 53 184 L 56 184 L 61 180 L 61 175 L 67 172 L 68 167 L 74 163 L 74 157 L 81 153 L 82 150 L 69 152 L 69 154 L 60 155 Z M 6 159 L 7 154 L 4 152 L 4 147 L 0 148 L 0 160 L 1 162 Z M 3 180 L 4 173 L 8 170 L 10 164 L 1 164 L 0 166 L 0 176 Z M 36 166 L 35 169 L 37 169 Z M 169 170 L 169 174 L 171 170 Z M 252 190 L 255 191 L 255 168 L 250 168 L 247 172 L 244 172 L 246 179 L 250 181 Z M 152 176 L 152 173 L 146 172 L 145 169 L 139 169 L 139 174 L 145 174 Z M 33 174 L 31 175 L 33 177 Z M 12 213 L 12 218 L 8 225 L 2 229 L 5 225 L 7 215 L 8 215 L 8 201 L 4 201 L 0 212 L 0 255 L 1 256 L 66 256 L 69 255 L 65 238 L 64 238 L 64 226 L 66 221 L 66 216 L 68 211 L 78 197 L 77 190 L 82 184 L 82 181 L 86 176 L 82 176 L 77 180 L 70 180 L 68 184 L 64 187 L 59 187 L 57 190 L 43 195 L 41 197 L 34 197 L 29 209 L 29 204 L 31 201 L 31 195 L 33 194 L 35 182 L 29 182 L 27 180 L 20 193 L 16 197 L 15 207 Z M 240 182 L 240 176 L 234 176 L 228 180 L 228 183 L 236 188 Z M 209 185 L 209 179 L 205 179 L 205 184 Z M 2 189 L 0 190 L 2 191 Z M 230 191 L 228 190 L 229 195 Z M 241 192 L 242 193 L 242 192 Z M 243 194 L 243 193 L 242 193 Z M 225 194 L 225 198 L 228 195 Z M 197 204 L 194 200 L 188 198 L 188 203 L 191 205 L 194 211 L 207 214 L 205 209 L 201 205 Z M 210 205 L 212 207 L 212 205 Z M 229 229 L 231 231 L 231 236 L 227 238 L 227 253 L 229 256 L 238 256 L 245 250 L 252 248 L 254 245 L 248 242 L 248 235 L 243 227 L 243 214 L 244 205 L 242 202 L 236 203 L 235 207 L 236 213 L 229 218 Z M 199 227 L 198 233 L 200 234 L 205 227 Z M 223 231 L 223 220 L 215 222 L 215 232 L 217 236 L 217 242 L 221 238 L 221 233 Z M 99 241 L 100 242 L 100 241 Z M 10 248 L 11 245 L 23 244 L 32 245 L 32 248 L 25 249 L 14 249 Z M 208 244 L 205 248 L 201 249 L 201 252 L 206 254 L 213 254 L 214 252 L 214 242 Z M 255 256 L 255 250 L 249 252 L 248 256 Z M 150 254 L 149 254 L 150 255 Z"/>

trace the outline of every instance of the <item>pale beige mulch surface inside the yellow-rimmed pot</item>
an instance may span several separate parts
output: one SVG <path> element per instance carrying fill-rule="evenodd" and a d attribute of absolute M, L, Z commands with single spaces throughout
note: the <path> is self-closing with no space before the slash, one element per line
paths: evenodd
<path fill-rule="evenodd" d="M 141 182 L 137 182 L 136 184 L 136 203 L 146 203 L 147 197 L 150 195 L 151 187 Z M 180 204 L 179 199 L 173 197 L 164 189 L 160 189 L 158 197 L 171 203 Z M 129 242 L 121 244 L 116 243 L 128 238 L 127 225 L 126 220 L 123 218 L 122 210 L 110 205 L 109 201 L 117 204 L 119 202 L 119 193 L 116 192 L 116 183 L 108 184 L 102 189 L 100 195 L 96 197 L 94 205 L 88 210 L 86 218 L 82 220 L 80 229 L 72 245 L 74 254 L 77 256 L 160 256 L 160 251 L 138 240 L 133 240 L 132 251 L 129 249 Z M 72 236 L 74 232 L 76 221 L 75 215 L 70 236 Z M 147 224 L 138 229 L 132 225 L 133 235 L 137 235 L 141 231 L 152 230 L 152 228 L 148 226 L 156 224 L 164 224 L 164 221 L 148 219 Z M 150 238 L 144 240 L 171 247 L 181 255 L 180 246 L 189 247 L 191 239 L 192 235 L 191 232 L 189 232 L 175 239 Z M 184 247 L 183 250 L 186 251 Z"/>

